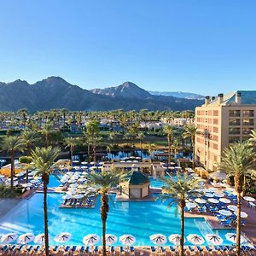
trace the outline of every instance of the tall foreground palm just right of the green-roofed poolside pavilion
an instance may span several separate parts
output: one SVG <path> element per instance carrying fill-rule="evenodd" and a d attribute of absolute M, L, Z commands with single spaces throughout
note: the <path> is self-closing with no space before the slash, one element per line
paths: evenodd
<path fill-rule="evenodd" d="M 199 182 L 196 179 L 189 177 L 187 174 L 177 174 L 177 178 L 172 176 L 165 178 L 165 186 L 163 187 L 163 193 L 160 198 L 163 201 L 168 201 L 168 206 L 177 203 L 180 207 L 181 218 L 181 239 L 179 247 L 179 256 L 183 256 L 184 247 L 184 208 L 186 206 L 186 200 L 191 196 L 199 195 L 195 189 L 199 189 Z"/>

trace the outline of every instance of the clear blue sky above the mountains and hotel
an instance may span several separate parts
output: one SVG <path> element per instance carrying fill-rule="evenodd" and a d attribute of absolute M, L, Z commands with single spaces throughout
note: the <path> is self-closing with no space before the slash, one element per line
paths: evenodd
<path fill-rule="evenodd" d="M 255 14 L 255 0 L 0 0 L 0 81 L 256 90 Z"/>

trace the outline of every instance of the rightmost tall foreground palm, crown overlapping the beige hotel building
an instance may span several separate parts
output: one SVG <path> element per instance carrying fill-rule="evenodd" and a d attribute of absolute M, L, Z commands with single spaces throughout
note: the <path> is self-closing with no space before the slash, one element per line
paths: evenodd
<path fill-rule="evenodd" d="M 237 220 L 236 220 L 236 255 L 240 255 L 241 246 L 241 193 L 246 188 L 244 180 L 253 167 L 256 153 L 249 143 L 234 143 L 224 149 L 221 168 L 228 176 L 234 177 L 237 192 Z"/>

